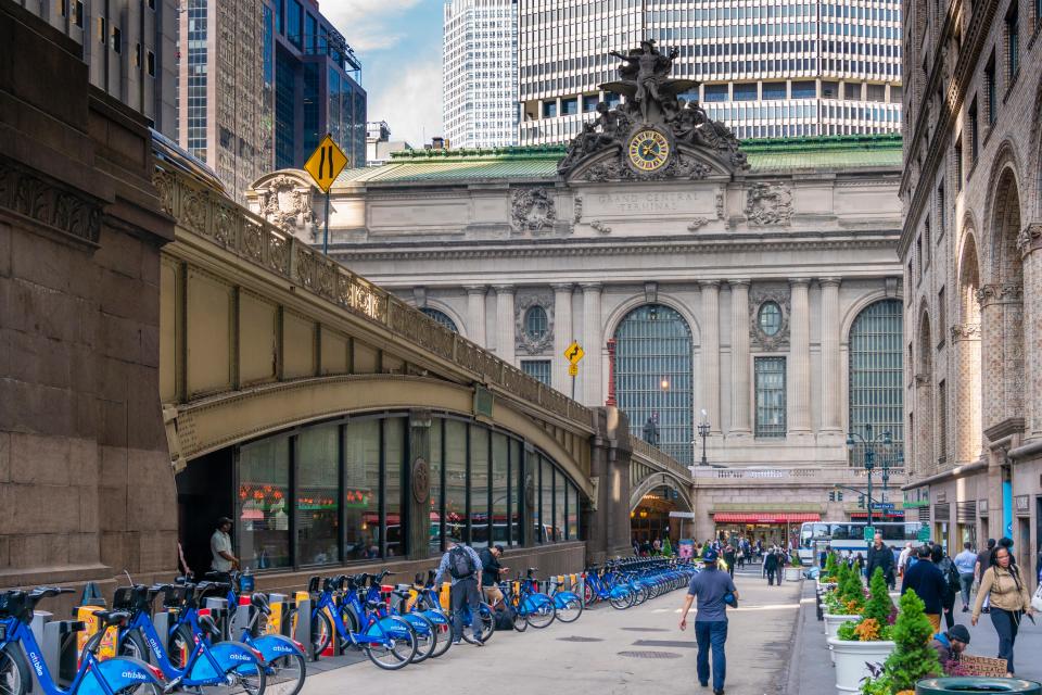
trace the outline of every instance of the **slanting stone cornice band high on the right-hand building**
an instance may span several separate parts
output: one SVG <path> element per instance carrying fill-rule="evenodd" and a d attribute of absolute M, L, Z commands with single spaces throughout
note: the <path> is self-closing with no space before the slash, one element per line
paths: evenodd
<path fill-rule="evenodd" d="M 948 142 L 946 136 L 955 127 L 955 121 L 958 118 L 958 111 L 962 109 L 963 100 L 966 96 L 966 89 L 974 77 L 974 67 L 977 65 L 977 59 L 983 50 L 984 40 L 988 38 L 988 27 L 991 25 L 991 18 L 999 8 L 999 0 L 988 0 L 975 7 L 975 12 L 970 18 L 967 29 L 968 40 L 963 45 L 964 50 L 960 52 L 958 63 L 953 72 L 952 84 L 948 90 L 948 98 L 941 105 L 941 113 L 938 114 L 938 128 L 935 131 L 933 140 L 930 142 L 930 149 L 919 172 L 919 179 L 932 176 L 937 172 L 938 160 L 943 152 L 942 143 Z M 936 67 L 936 65 L 935 65 Z M 922 110 L 920 110 L 922 113 Z M 925 116 L 922 116 L 925 118 Z M 943 127 L 941 127 L 943 125 Z M 918 125 L 916 132 L 919 132 Z M 911 150 L 908 150 L 911 151 Z M 900 191 L 907 190 L 910 184 L 911 169 L 905 163 L 904 173 L 901 176 Z M 907 215 L 904 218 L 904 227 L 901 230 L 901 240 L 898 242 L 898 255 L 904 257 L 912 239 L 915 236 L 915 229 L 918 226 L 919 216 L 923 207 L 929 199 L 932 186 L 917 186 L 912 200 L 908 202 Z"/>

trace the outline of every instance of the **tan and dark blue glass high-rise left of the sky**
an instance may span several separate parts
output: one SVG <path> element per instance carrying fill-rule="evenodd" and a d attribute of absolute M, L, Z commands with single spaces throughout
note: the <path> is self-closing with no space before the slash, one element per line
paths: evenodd
<path fill-rule="evenodd" d="M 305 0 L 187 0 L 180 143 L 237 200 L 263 174 L 301 167 L 327 134 L 365 162 L 366 92 L 344 37 Z M 219 40 L 218 40 L 219 39 Z"/>

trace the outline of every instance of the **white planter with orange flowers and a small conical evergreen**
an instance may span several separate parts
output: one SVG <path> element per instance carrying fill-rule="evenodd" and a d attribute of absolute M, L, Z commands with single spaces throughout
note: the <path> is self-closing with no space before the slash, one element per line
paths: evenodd
<path fill-rule="evenodd" d="M 838 693 L 856 693 L 862 680 L 872 675 L 867 667 L 884 662 L 893 652 L 892 615 L 893 604 L 887 593 L 887 580 L 882 577 L 882 570 L 877 568 L 872 576 L 869 597 L 862 615 L 856 620 L 843 622 L 836 636 L 828 640 L 836 665 Z"/>

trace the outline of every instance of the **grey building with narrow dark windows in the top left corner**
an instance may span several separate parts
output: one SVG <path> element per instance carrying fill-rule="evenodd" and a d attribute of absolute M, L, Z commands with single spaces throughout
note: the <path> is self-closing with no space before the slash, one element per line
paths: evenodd
<path fill-rule="evenodd" d="M 82 46 L 90 81 L 177 138 L 178 2 L 22 2 Z"/>

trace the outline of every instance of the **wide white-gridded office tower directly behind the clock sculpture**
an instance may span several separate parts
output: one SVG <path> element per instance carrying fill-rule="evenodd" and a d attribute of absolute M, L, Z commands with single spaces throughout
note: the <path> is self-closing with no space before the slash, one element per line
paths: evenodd
<path fill-rule="evenodd" d="M 676 47 L 683 97 L 741 139 L 901 129 L 901 5 L 780 0 L 520 0 L 522 144 L 563 142 L 615 99 L 609 51 Z"/>

